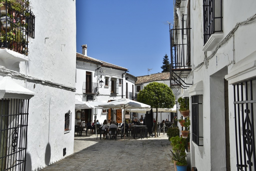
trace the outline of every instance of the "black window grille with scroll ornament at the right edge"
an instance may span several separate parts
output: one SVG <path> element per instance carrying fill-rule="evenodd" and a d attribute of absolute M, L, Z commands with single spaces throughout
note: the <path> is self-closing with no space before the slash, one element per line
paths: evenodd
<path fill-rule="evenodd" d="M 256 78 L 233 85 L 237 170 L 256 170 L 255 128 Z"/>

